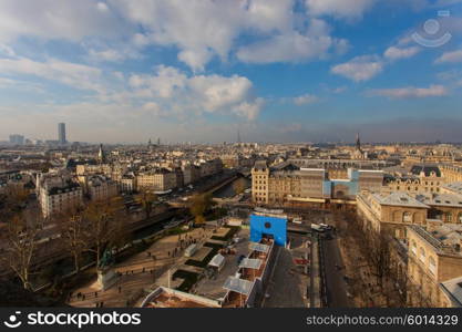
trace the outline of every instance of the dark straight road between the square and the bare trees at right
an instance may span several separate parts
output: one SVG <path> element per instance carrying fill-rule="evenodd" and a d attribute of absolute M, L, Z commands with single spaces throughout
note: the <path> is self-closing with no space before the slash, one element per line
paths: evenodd
<path fill-rule="evenodd" d="M 347 297 L 347 283 L 343 280 L 343 267 L 338 241 L 333 239 L 325 239 L 321 242 L 325 255 L 325 276 L 326 276 L 326 291 L 327 303 L 329 308 L 348 308 L 350 301 Z"/>

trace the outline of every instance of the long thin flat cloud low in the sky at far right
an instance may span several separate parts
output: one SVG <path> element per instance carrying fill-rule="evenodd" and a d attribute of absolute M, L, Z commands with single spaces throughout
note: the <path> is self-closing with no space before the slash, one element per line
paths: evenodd
<path fill-rule="evenodd" d="M 429 87 L 398 87 L 398 89 L 378 89 L 369 91 L 369 95 L 387 96 L 390 98 L 423 98 L 438 97 L 448 95 L 448 90 L 443 85 L 430 85 Z"/>

